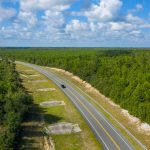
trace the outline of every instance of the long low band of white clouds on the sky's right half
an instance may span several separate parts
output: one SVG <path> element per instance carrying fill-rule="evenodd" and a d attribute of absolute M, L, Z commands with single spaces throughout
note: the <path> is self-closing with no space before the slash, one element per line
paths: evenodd
<path fill-rule="evenodd" d="M 141 23 L 141 21 L 133 23 L 131 20 L 137 20 L 136 16 L 132 16 L 130 22 L 126 20 L 121 22 L 83 22 L 72 20 L 66 26 L 65 32 L 69 35 L 70 39 L 80 40 L 80 42 L 92 41 L 93 43 L 106 41 L 137 42 L 148 38 L 147 35 L 144 36 L 142 29 L 149 28 L 150 24 Z"/>

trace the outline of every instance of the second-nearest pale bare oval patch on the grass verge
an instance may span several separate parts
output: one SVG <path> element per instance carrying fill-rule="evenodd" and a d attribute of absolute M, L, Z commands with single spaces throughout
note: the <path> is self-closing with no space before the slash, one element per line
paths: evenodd
<path fill-rule="evenodd" d="M 65 105 L 65 102 L 64 101 L 46 101 L 46 102 L 40 103 L 40 105 L 41 106 L 50 106 L 50 107 L 63 106 L 63 105 Z"/>

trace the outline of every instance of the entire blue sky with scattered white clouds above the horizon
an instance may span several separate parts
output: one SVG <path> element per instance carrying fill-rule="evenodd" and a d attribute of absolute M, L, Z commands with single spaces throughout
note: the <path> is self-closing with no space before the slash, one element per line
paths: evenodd
<path fill-rule="evenodd" d="M 0 0 L 0 46 L 150 47 L 148 0 Z"/>

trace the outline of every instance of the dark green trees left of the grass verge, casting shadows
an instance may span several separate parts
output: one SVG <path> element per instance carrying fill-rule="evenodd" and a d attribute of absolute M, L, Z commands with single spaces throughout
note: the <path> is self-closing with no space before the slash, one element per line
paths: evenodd
<path fill-rule="evenodd" d="M 17 148 L 21 122 L 32 98 L 21 85 L 12 61 L 0 60 L 0 149 Z"/>

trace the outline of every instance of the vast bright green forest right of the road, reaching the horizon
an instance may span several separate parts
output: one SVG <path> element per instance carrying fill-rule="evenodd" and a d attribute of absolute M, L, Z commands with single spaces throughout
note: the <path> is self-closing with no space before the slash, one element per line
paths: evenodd
<path fill-rule="evenodd" d="M 149 50 L 1 49 L 0 55 L 73 72 L 150 124 Z"/>

